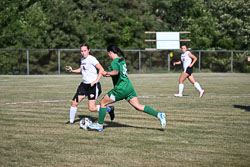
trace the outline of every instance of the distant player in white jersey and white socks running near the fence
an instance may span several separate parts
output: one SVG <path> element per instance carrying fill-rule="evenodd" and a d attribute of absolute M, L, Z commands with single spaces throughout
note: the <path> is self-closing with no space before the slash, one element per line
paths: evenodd
<path fill-rule="evenodd" d="M 174 94 L 175 97 L 182 97 L 183 90 L 184 90 L 184 84 L 186 78 L 194 85 L 194 87 L 200 92 L 200 97 L 202 97 L 205 93 L 205 90 L 203 90 L 198 82 L 194 80 L 193 75 L 193 65 L 197 61 L 197 58 L 187 50 L 187 45 L 181 46 L 181 61 L 174 62 L 174 66 L 177 64 L 183 65 L 183 72 L 181 73 L 180 79 L 179 79 L 179 93 Z"/>

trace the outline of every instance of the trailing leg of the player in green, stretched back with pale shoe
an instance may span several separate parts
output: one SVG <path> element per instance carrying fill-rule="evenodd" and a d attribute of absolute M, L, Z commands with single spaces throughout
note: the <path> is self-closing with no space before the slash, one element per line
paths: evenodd
<path fill-rule="evenodd" d="M 162 128 L 166 127 L 166 114 L 165 113 L 159 113 L 159 112 L 157 112 L 156 110 L 154 110 L 153 108 L 151 108 L 148 105 L 140 104 L 139 100 L 138 100 L 138 97 L 131 98 L 129 100 L 129 104 L 131 104 L 138 111 L 142 111 L 142 112 L 145 112 L 145 113 L 147 113 L 149 115 L 157 117 L 161 122 Z"/>

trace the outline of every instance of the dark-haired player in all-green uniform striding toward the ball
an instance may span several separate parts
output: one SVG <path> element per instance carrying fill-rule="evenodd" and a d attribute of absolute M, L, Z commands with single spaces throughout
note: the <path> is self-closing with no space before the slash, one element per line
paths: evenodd
<path fill-rule="evenodd" d="M 112 77 L 114 88 L 100 101 L 101 108 L 98 116 L 98 123 L 90 124 L 89 128 L 102 131 L 104 118 L 107 112 L 106 106 L 116 101 L 125 99 L 136 110 L 157 117 L 161 122 L 161 127 L 164 129 L 166 127 L 166 114 L 159 113 L 151 107 L 139 103 L 134 87 L 128 78 L 127 65 L 124 58 L 122 58 L 124 57 L 123 52 L 116 45 L 108 46 L 107 52 L 109 57 L 112 59 L 112 62 L 109 67 L 109 72 L 103 71 L 102 75 L 105 77 Z"/>

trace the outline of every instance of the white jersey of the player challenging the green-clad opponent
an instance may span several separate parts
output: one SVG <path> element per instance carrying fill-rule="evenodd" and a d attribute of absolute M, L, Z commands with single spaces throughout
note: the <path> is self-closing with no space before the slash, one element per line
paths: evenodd
<path fill-rule="evenodd" d="M 85 84 L 90 84 L 95 81 L 98 74 L 96 65 L 99 61 L 91 55 L 88 55 L 87 58 L 81 59 L 81 72 L 82 72 L 82 82 Z"/>

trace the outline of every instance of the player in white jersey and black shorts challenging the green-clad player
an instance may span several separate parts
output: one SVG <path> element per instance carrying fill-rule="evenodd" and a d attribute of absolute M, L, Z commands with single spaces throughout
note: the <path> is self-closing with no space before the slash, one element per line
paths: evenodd
<path fill-rule="evenodd" d="M 72 99 L 72 104 L 69 112 L 69 121 L 66 124 L 73 124 L 77 113 L 78 104 L 87 96 L 88 97 L 88 108 L 89 111 L 100 111 L 100 105 L 96 105 L 97 97 L 101 94 L 101 84 L 99 80 L 102 77 L 104 71 L 99 61 L 92 55 L 89 54 L 88 44 L 81 45 L 81 66 L 78 69 L 73 70 L 71 66 L 66 66 L 66 70 L 73 73 L 82 73 L 82 82 L 77 88 L 75 96 Z M 99 72 L 97 72 L 97 70 Z M 107 106 L 110 119 L 113 120 L 114 107 Z"/>

